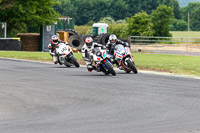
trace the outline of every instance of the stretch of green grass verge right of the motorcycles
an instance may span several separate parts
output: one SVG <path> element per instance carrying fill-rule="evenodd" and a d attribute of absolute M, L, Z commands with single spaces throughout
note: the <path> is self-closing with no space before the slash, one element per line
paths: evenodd
<path fill-rule="evenodd" d="M 161 54 L 134 54 L 137 68 L 200 76 L 200 57 Z"/>

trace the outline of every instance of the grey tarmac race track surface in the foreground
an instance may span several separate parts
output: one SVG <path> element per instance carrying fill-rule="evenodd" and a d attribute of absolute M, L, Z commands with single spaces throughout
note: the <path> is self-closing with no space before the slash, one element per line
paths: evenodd
<path fill-rule="evenodd" d="M 0 59 L 0 133 L 200 133 L 200 80 Z"/>

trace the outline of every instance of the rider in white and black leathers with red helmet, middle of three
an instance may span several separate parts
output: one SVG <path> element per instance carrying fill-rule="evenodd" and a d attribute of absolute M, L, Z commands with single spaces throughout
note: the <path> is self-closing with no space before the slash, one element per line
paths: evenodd
<path fill-rule="evenodd" d="M 101 47 L 103 49 L 106 48 L 102 44 L 95 43 L 92 37 L 87 37 L 81 49 L 83 59 L 86 61 L 87 69 L 89 72 L 92 72 L 93 69 L 96 69 L 96 67 L 92 65 L 92 62 L 93 62 L 92 54 L 94 53 L 95 47 Z"/>

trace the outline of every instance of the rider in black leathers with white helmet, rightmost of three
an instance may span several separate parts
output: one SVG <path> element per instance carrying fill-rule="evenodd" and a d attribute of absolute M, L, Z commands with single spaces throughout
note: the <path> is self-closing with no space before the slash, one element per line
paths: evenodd
<path fill-rule="evenodd" d="M 111 54 L 113 56 L 113 61 L 112 63 L 116 63 L 117 67 L 119 67 L 119 64 L 117 63 L 117 60 L 115 59 L 115 55 L 114 55 L 114 49 L 115 46 L 118 44 L 122 44 L 124 47 L 129 47 L 129 44 L 126 42 L 123 42 L 119 39 L 117 39 L 117 36 L 114 34 L 111 34 L 109 36 L 109 40 L 108 43 L 106 44 L 106 48 L 108 49 L 109 54 Z"/>

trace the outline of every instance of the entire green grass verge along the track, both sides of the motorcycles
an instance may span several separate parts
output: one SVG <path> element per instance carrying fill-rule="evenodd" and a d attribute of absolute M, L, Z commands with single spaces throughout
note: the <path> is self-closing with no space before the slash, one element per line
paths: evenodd
<path fill-rule="evenodd" d="M 82 60 L 81 53 L 75 53 L 77 60 Z M 0 57 L 52 61 L 48 52 L 0 51 Z M 200 76 L 200 57 L 161 54 L 134 54 L 136 67 L 156 71 Z"/>

